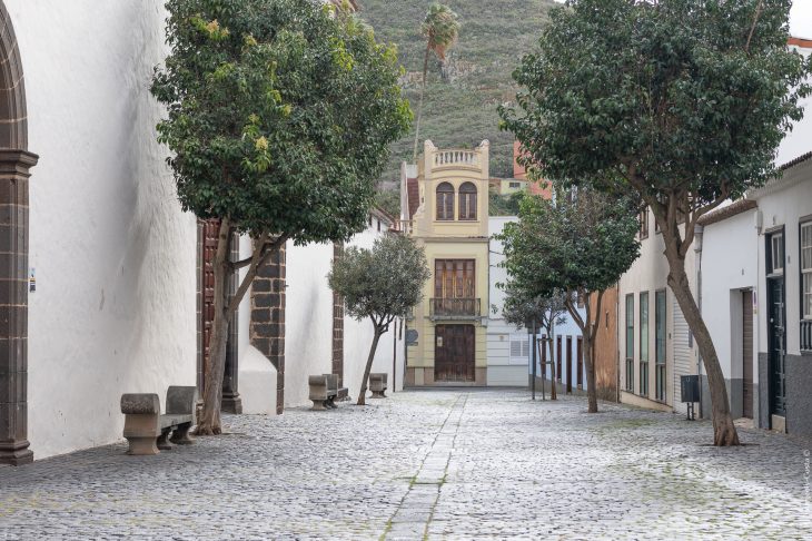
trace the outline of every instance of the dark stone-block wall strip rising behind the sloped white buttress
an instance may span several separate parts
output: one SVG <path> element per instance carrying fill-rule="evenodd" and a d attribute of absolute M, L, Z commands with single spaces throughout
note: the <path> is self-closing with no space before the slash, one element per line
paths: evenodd
<path fill-rule="evenodd" d="M 285 247 L 259 267 L 251 284 L 251 345 L 277 371 L 276 413 L 285 411 Z"/>

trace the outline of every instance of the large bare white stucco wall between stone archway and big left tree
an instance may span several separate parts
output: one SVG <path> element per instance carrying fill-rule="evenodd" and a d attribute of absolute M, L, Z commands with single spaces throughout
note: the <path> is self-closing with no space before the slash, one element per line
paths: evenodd
<path fill-rule="evenodd" d="M 121 439 L 125 392 L 195 384 L 196 226 L 156 142 L 162 2 L 6 0 L 26 77 L 29 439 L 37 459 Z"/>

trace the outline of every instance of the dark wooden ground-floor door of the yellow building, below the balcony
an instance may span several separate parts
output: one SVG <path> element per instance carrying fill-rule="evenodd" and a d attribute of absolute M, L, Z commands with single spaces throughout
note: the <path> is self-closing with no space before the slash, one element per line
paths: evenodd
<path fill-rule="evenodd" d="M 435 335 L 434 380 L 474 382 L 474 325 L 437 325 Z"/>

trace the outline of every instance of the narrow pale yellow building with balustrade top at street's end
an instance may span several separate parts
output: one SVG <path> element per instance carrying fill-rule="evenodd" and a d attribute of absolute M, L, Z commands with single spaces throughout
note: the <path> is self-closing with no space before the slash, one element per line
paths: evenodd
<path fill-rule="evenodd" d="M 403 228 L 432 269 L 407 321 L 417 331 L 407 385 L 487 384 L 488 151 L 488 141 L 438 149 L 427 140 L 417 166 L 402 167 Z"/>

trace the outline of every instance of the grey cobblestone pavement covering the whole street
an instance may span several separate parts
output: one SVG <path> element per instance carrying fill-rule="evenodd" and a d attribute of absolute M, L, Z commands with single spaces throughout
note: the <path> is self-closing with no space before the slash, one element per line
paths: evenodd
<path fill-rule="evenodd" d="M 715 449 L 707 422 L 518 391 L 370 402 L 0 468 L 0 539 L 812 539 L 806 440 Z"/>

